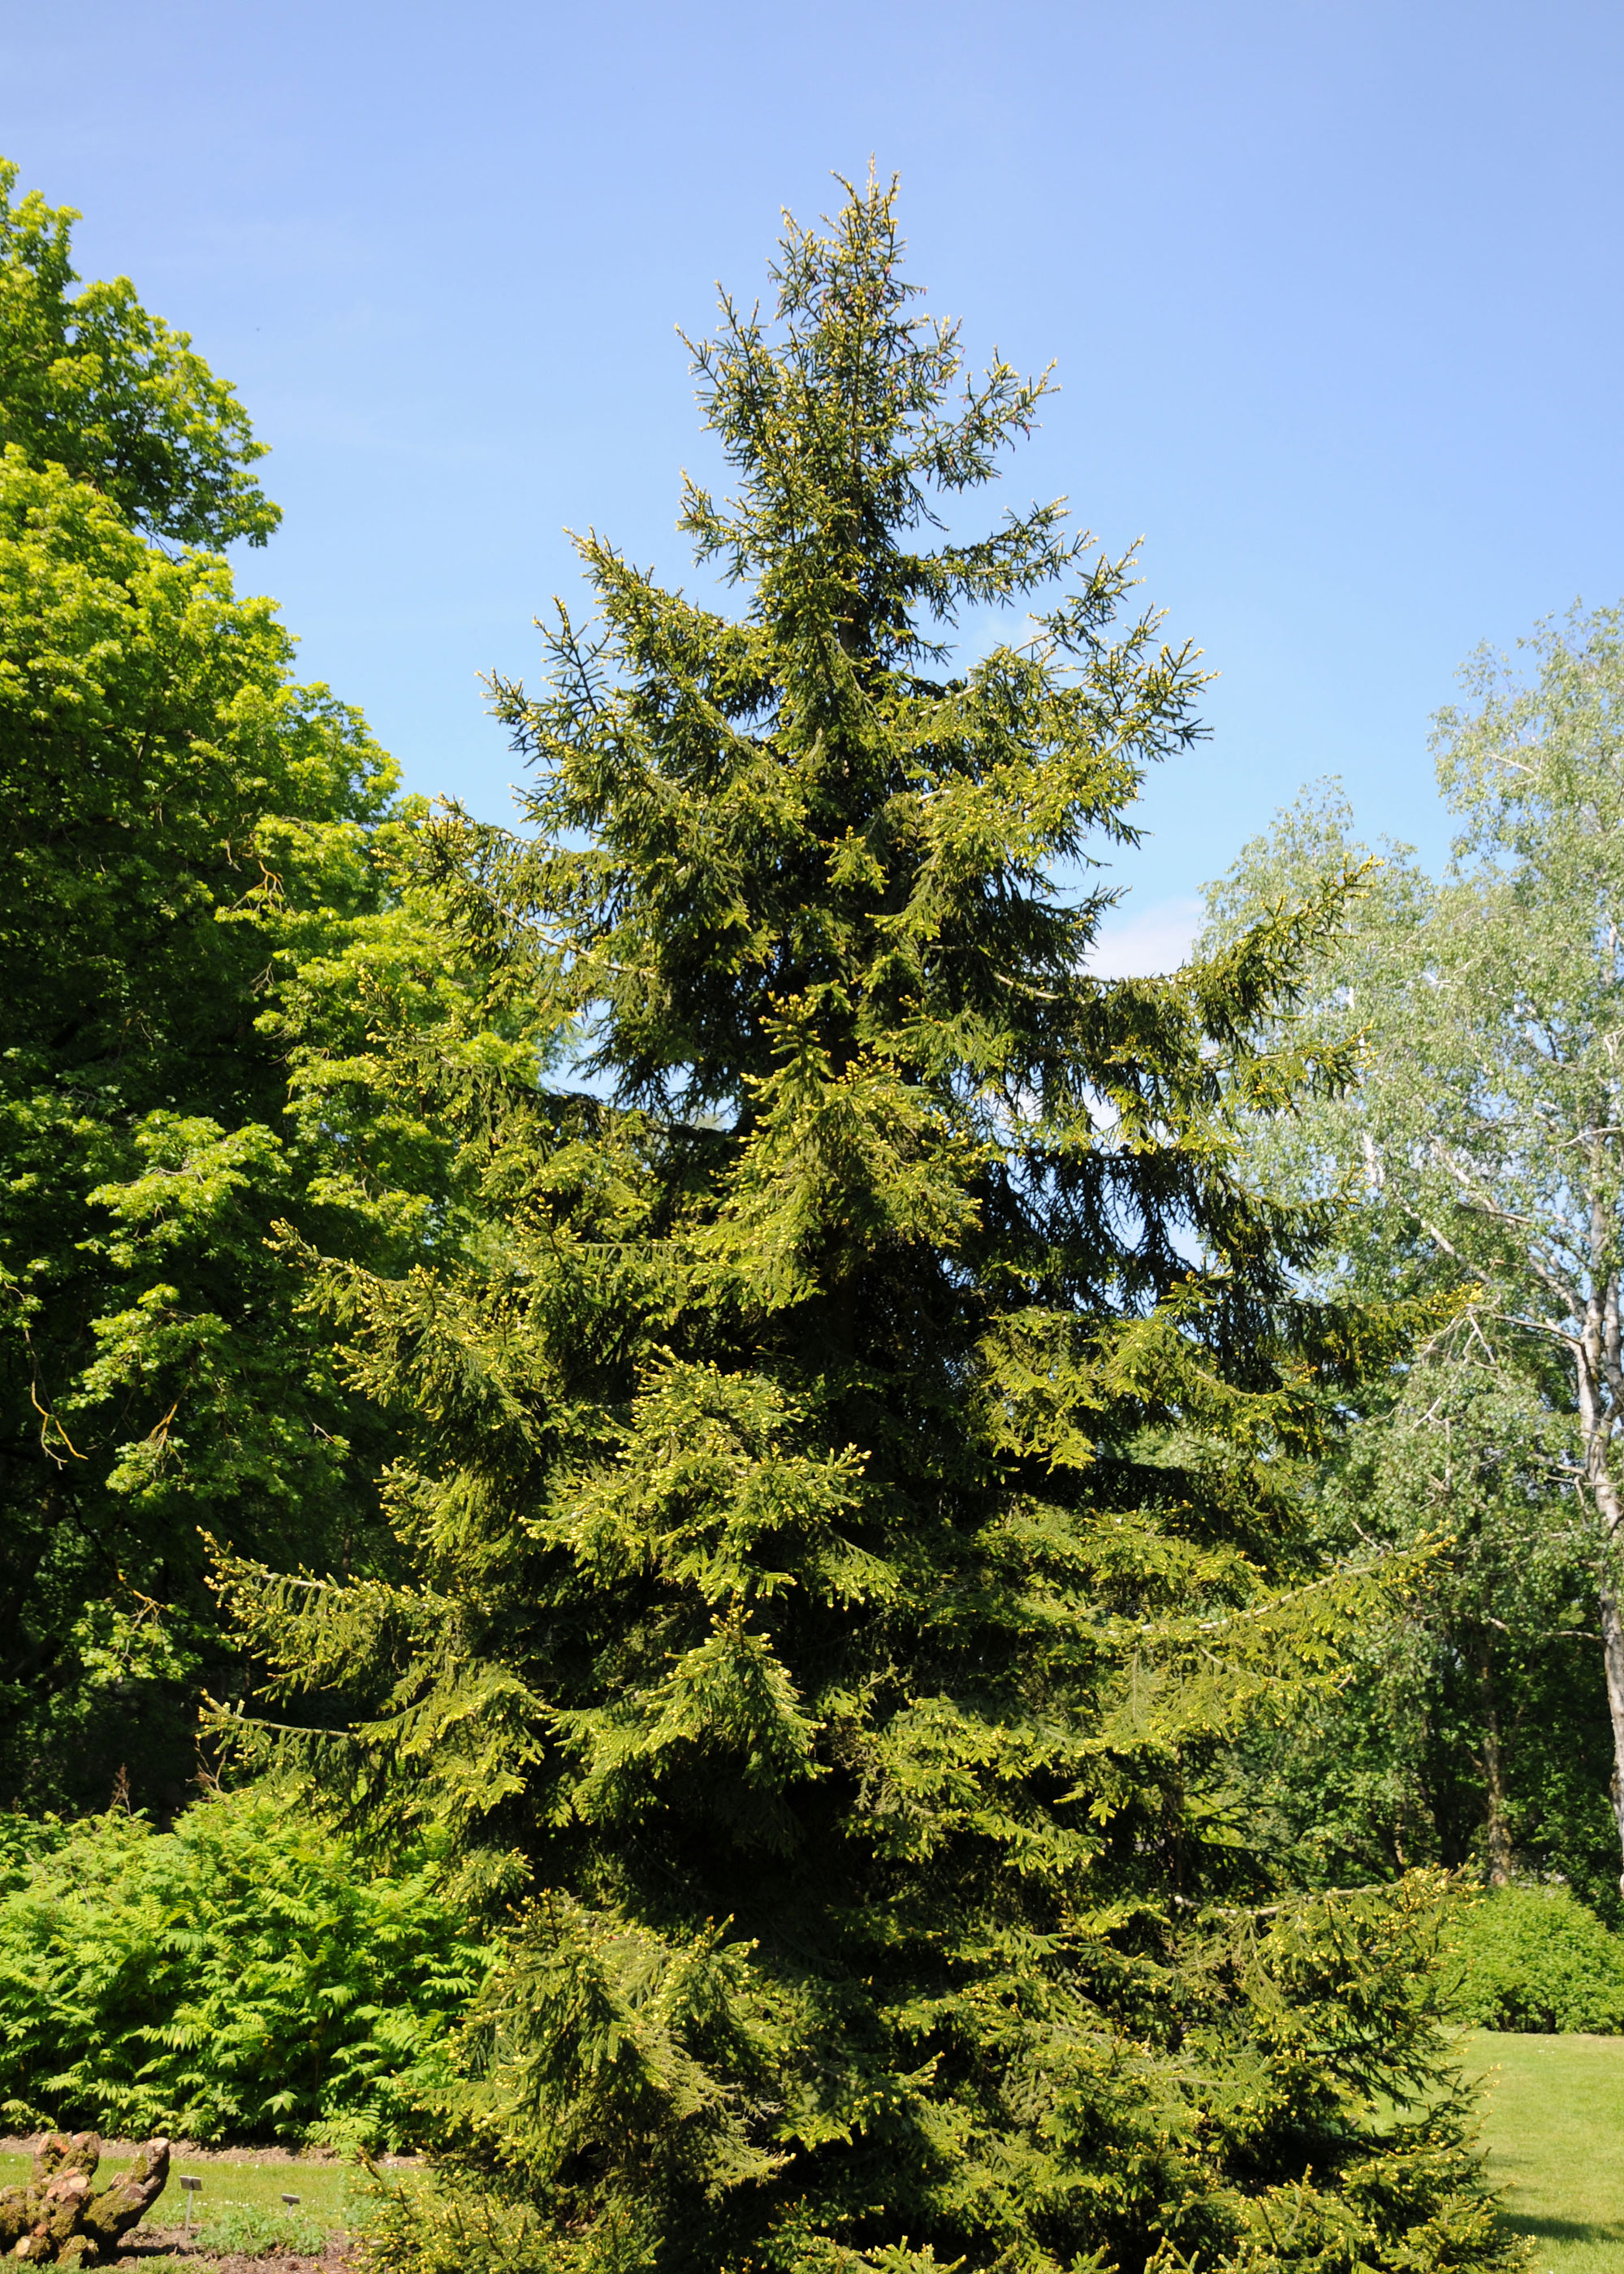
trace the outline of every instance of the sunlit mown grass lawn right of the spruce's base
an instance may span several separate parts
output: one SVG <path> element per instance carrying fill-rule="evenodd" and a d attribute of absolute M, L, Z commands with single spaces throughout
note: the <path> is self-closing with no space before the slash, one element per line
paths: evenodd
<path fill-rule="evenodd" d="M 1478 2031 L 1483 2140 L 1533 2274 L 1624 2274 L 1624 2038 Z"/>

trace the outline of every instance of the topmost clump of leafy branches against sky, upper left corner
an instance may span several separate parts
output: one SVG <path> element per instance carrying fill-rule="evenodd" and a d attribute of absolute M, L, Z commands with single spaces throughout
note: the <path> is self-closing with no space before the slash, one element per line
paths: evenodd
<path fill-rule="evenodd" d="M 282 518 L 248 473 L 266 446 L 187 332 L 171 332 L 130 277 L 77 282 L 73 207 L 36 189 L 16 205 L 0 159 L 0 446 L 86 482 L 155 539 L 262 546 Z"/>

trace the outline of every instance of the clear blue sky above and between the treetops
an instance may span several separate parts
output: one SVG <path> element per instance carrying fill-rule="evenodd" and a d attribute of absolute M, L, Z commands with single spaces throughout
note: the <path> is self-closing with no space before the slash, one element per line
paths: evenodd
<path fill-rule="evenodd" d="M 564 525 L 694 582 L 673 325 L 901 171 L 926 305 L 1058 362 L 1005 498 L 1144 537 L 1219 673 L 1115 871 L 1155 964 L 1315 775 L 1435 860 L 1458 662 L 1624 594 L 1622 66 L 1581 0 L 5 0 L 0 150 L 241 387 L 307 675 L 494 819 Z"/>

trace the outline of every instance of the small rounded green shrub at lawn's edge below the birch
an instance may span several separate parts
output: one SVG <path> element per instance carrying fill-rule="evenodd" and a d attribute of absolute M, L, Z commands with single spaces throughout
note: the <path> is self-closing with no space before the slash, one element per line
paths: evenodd
<path fill-rule="evenodd" d="M 1624 2031 L 1624 1937 L 1567 1887 L 1501 1887 L 1458 1928 L 1460 2017 L 1474 2028 Z"/>

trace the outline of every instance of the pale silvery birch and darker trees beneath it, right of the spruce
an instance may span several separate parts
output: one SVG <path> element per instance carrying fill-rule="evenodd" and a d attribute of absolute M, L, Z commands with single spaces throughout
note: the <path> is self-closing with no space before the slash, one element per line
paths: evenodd
<path fill-rule="evenodd" d="M 1449 1553 L 1353 1687 L 1269 1756 L 1306 1869 L 1556 1874 L 1619 1917 L 1619 1046 L 1624 644 L 1617 609 L 1492 653 L 1440 714 L 1442 880 L 1376 862 L 1335 785 L 1212 889 L 1208 939 L 1360 873 L 1292 1028 L 1360 1039 L 1340 1098 L 1251 1135 L 1278 1189 L 1347 1194 L 1337 1285 L 1451 1317 L 1317 1480 L 1326 1539 Z"/>

